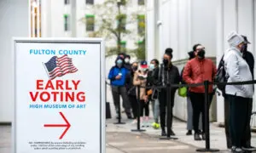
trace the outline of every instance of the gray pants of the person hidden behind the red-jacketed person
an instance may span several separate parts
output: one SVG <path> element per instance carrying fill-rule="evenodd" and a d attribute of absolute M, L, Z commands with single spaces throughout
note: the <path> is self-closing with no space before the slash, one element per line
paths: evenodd
<path fill-rule="evenodd" d="M 187 129 L 193 130 L 193 107 L 191 104 L 190 97 L 187 97 L 187 111 L 188 111 L 188 122 L 187 122 Z M 202 130 L 202 122 L 201 122 L 201 114 L 199 118 L 199 129 Z"/>

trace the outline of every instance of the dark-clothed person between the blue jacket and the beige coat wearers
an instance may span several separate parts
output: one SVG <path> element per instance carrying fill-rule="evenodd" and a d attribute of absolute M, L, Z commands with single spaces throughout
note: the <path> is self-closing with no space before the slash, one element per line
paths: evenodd
<path fill-rule="evenodd" d="M 133 85 L 133 79 L 134 75 L 137 71 L 138 68 L 138 62 L 133 62 L 131 64 L 131 73 L 130 73 L 130 82 L 128 84 L 128 97 L 130 99 L 131 103 L 131 109 L 132 109 L 132 114 L 133 118 L 135 119 L 132 123 L 137 123 L 137 109 L 138 109 L 138 104 L 137 104 L 137 97 L 136 97 L 136 87 Z"/>

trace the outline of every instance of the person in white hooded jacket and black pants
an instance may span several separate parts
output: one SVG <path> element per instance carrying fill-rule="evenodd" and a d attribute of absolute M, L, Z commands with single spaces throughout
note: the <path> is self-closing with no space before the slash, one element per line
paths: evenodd
<path fill-rule="evenodd" d="M 228 82 L 252 81 L 253 77 L 241 51 L 245 48 L 243 37 L 232 31 L 228 36 L 230 48 L 224 55 L 224 67 Z M 247 150 L 242 143 L 247 126 L 247 103 L 253 98 L 253 84 L 227 85 L 225 93 L 230 102 L 230 135 L 233 152 Z"/>

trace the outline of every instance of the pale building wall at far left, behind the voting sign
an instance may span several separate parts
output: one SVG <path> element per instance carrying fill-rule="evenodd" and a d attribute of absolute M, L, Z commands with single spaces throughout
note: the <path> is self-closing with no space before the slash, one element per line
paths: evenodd
<path fill-rule="evenodd" d="M 0 122 L 14 117 L 14 54 L 12 37 L 29 37 L 29 6 L 26 0 L 0 1 Z"/>

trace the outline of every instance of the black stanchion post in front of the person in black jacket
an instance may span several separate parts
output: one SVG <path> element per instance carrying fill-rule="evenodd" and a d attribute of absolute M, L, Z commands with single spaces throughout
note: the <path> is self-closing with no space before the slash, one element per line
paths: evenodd
<path fill-rule="evenodd" d="M 168 79 L 168 78 L 167 78 Z M 166 138 L 160 138 L 160 139 L 177 139 L 175 137 L 171 137 L 171 109 L 172 109 L 172 104 L 171 104 L 171 84 L 167 83 L 166 86 L 166 105 L 167 105 L 167 122 L 166 122 L 166 127 L 167 127 L 167 135 Z"/>

